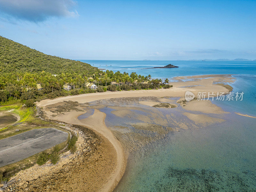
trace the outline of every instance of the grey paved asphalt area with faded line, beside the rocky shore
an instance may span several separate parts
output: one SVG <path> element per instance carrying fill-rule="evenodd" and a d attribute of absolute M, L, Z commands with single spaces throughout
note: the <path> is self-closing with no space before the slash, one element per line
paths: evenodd
<path fill-rule="evenodd" d="M 33 129 L 0 140 L 0 167 L 16 163 L 67 140 L 68 133 L 54 128 Z"/>

